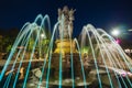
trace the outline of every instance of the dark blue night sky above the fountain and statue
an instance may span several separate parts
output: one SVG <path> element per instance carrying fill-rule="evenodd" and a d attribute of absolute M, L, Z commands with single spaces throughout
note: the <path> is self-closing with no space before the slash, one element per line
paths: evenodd
<path fill-rule="evenodd" d="M 64 6 L 76 9 L 74 32 L 77 35 L 88 23 L 107 31 L 119 25 L 132 29 L 132 0 L 0 0 L 0 28 L 21 29 L 40 13 L 51 16 L 53 28 L 57 9 Z"/>

